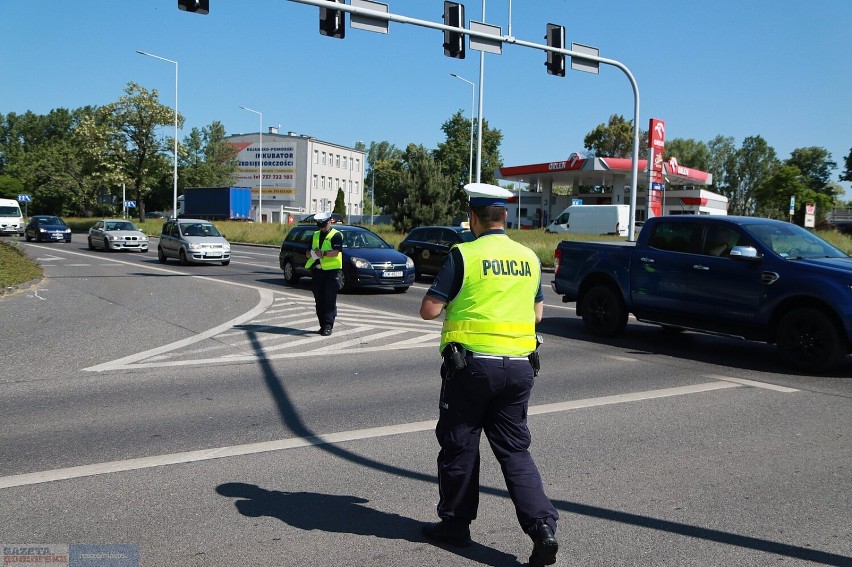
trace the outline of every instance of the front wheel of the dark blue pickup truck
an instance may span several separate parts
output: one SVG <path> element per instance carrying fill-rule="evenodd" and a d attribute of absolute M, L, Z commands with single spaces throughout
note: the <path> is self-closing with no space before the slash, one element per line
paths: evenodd
<path fill-rule="evenodd" d="M 819 309 L 802 307 L 778 324 L 781 357 L 803 372 L 821 374 L 840 364 L 847 349 L 834 321 Z"/>

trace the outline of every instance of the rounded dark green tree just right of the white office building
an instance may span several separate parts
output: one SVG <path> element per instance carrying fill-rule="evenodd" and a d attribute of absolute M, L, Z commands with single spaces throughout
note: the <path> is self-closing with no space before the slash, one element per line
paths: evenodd
<path fill-rule="evenodd" d="M 441 166 L 423 146 L 409 144 L 403 154 L 398 205 L 391 213 L 397 230 L 408 232 L 421 224 L 449 224 L 453 211 L 456 182 L 441 171 Z"/>

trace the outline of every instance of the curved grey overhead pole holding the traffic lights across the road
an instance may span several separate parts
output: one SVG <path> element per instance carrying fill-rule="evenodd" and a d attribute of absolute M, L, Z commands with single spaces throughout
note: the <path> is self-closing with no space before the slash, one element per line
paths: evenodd
<path fill-rule="evenodd" d="M 400 24 L 410 24 L 415 26 L 420 26 L 424 28 L 430 28 L 434 30 L 440 31 L 448 31 L 455 32 L 470 36 L 471 38 L 477 38 L 482 40 L 488 40 L 490 42 L 500 42 L 501 44 L 507 43 L 510 45 L 518 45 L 520 47 L 529 47 L 532 49 L 538 49 L 540 51 L 558 53 L 561 55 L 565 55 L 571 57 L 572 59 L 577 59 L 578 61 L 594 61 L 596 63 L 600 63 L 603 65 L 610 65 L 612 67 L 616 67 L 620 69 L 630 81 L 630 86 L 633 88 L 633 152 L 632 152 L 632 164 L 631 164 L 631 181 L 630 181 L 630 227 L 629 227 L 629 240 L 635 240 L 636 238 L 636 190 L 638 187 L 639 180 L 639 85 L 636 83 L 636 79 L 633 76 L 633 73 L 630 72 L 630 69 L 627 68 L 623 63 L 616 61 L 615 59 L 608 59 L 606 57 L 599 57 L 597 55 L 593 55 L 591 53 L 581 53 L 578 51 L 572 51 L 570 49 L 561 49 L 556 47 L 550 47 L 548 45 L 541 45 L 538 43 L 532 43 L 529 41 L 519 40 L 510 35 L 493 35 L 490 33 L 484 33 L 476 30 L 469 30 L 464 28 L 457 28 L 452 26 L 447 26 L 444 24 L 439 24 L 436 22 L 430 22 L 427 20 L 419 20 L 416 18 L 409 18 L 407 16 L 400 16 L 398 14 L 391 14 L 390 12 L 380 12 L 376 10 L 369 10 L 366 8 L 361 8 L 359 6 L 351 6 L 348 4 L 339 4 L 337 2 L 329 2 L 328 0 L 289 0 L 290 2 L 295 2 L 297 4 L 307 4 L 309 6 L 316 6 L 317 8 L 333 8 L 334 10 L 339 10 L 341 12 L 348 12 L 350 14 L 363 17 L 364 19 L 369 19 L 377 22 L 383 22 L 386 26 L 388 22 L 396 22 Z M 481 105 L 480 100 L 480 105 Z M 479 168 L 477 168 L 479 169 Z"/>

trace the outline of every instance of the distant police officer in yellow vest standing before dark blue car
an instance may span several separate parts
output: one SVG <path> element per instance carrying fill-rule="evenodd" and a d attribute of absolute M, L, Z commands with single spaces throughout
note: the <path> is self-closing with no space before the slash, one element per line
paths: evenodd
<path fill-rule="evenodd" d="M 330 213 L 317 213 L 314 220 L 319 230 L 314 232 L 305 267 L 311 270 L 319 334 L 327 337 L 337 317 L 337 279 L 343 269 L 343 235 L 332 228 Z"/>

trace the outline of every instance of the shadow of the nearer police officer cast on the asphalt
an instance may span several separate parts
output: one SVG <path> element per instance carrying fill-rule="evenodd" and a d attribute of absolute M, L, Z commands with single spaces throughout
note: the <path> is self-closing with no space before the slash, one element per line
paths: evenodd
<path fill-rule="evenodd" d="M 254 484 L 226 482 L 216 487 L 222 496 L 237 498 L 237 511 L 243 516 L 269 516 L 302 530 L 375 536 L 425 543 L 420 534 L 422 522 L 399 514 L 388 514 L 364 506 L 369 500 L 358 496 L 281 492 Z M 467 548 L 444 548 L 484 565 L 520 565 L 514 555 L 474 544 Z"/>

